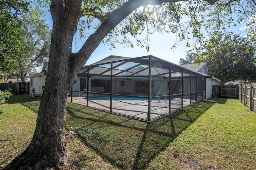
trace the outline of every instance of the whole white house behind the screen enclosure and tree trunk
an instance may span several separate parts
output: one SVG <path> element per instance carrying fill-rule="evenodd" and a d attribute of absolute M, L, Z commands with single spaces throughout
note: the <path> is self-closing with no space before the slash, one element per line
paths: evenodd
<path fill-rule="evenodd" d="M 90 92 L 94 93 L 110 93 L 110 87 L 112 87 L 112 93 L 116 94 L 126 94 L 131 92 L 140 95 L 147 94 L 149 91 L 149 71 L 147 59 L 151 57 L 153 57 L 154 60 L 158 60 L 158 58 L 151 55 L 150 57 L 144 56 L 136 58 L 110 55 L 96 63 L 87 66 L 85 65 L 78 72 L 77 81 L 72 86 L 72 95 L 81 95 L 79 93 L 80 89 L 88 89 Z M 198 67 L 196 67 L 196 64 L 172 64 L 172 67 L 178 71 L 171 73 L 172 84 L 170 85 L 170 83 L 168 83 L 169 69 L 164 69 L 164 67 L 169 67 L 169 62 L 162 59 L 159 59 L 159 61 L 163 65 L 159 65 L 159 63 L 153 62 L 152 69 L 150 71 L 152 75 L 151 94 L 153 96 L 157 95 L 159 92 L 161 95 L 169 93 L 168 89 L 170 86 L 172 92 L 171 94 L 180 94 L 182 91 L 183 93 L 189 93 L 190 88 L 194 88 L 196 89 L 195 91 L 201 91 L 202 89 L 203 93 L 198 93 L 198 95 L 202 96 L 202 98 L 210 98 L 212 97 L 212 85 L 216 85 L 218 84 L 218 81 L 220 81 L 208 75 L 207 63 L 202 63 L 198 65 Z M 110 86 L 111 67 L 113 75 L 112 83 L 114 82 L 112 86 Z M 182 68 L 184 68 L 184 73 L 182 73 Z M 88 69 L 89 75 L 87 75 Z M 35 94 L 42 94 L 47 70 L 48 60 L 44 61 L 41 73 L 28 76 L 30 78 L 30 93 L 32 93 L 32 88 L 35 88 Z M 200 80 L 198 86 L 201 85 L 202 87 L 193 87 L 192 84 L 190 85 L 190 81 L 193 81 L 193 78 L 191 78 L 193 76 L 190 76 L 190 72 L 193 76 L 198 75 L 198 78 L 196 78 L 198 81 Z M 183 76 L 183 85 L 182 79 L 180 78 L 181 75 Z M 87 79 L 89 80 L 88 85 Z"/>

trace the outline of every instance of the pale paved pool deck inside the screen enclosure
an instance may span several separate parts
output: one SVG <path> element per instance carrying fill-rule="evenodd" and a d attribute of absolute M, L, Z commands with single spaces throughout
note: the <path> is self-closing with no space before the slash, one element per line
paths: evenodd
<path fill-rule="evenodd" d="M 71 102 L 71 97 L 68 97 L 68 102 Z M 72 103 L 79 105 L 87 105 L 85 97 L 73 97 Z M 184 99 L 183 106 L 190 105 L 190 100 Z M 109 100 L 89 100 L 88 107 L 110 112 Z M 181 109 L 180 99 L 173 99 L 171 101 L 171 113 Z M 141 121 L 148 121 L 148 101 L 144 100 L 113 100 L 112 111 L 110 113 L 138 119 Z M 165 101 L 151 101 L 150 121 L 158 120 L 169 113 L 169 102 Z"/>

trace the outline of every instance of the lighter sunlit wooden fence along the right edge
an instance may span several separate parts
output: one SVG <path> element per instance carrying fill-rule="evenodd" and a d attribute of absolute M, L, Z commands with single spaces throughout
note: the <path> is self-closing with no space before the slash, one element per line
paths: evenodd
<path fill-rule="evenodd" d="M 256 112 L 256 83 L 239 85 L 238 100 L 248 106 L 250 111 Z"/>

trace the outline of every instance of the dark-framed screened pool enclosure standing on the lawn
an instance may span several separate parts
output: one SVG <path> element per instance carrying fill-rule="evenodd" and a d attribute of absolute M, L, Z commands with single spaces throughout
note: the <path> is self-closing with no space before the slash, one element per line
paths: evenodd
<path fill-rule="evenodd" d="M 152 55 L 110 56 L 83 67 L 78 78 L 80 104 L 145 122 L 200 101 L 205 91 L 204 75 Z"/>

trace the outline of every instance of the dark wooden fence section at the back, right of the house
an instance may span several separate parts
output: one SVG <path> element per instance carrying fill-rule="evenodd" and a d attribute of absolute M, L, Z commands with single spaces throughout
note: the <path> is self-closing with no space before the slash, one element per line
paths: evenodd
<path fill-rule="evenodd" d="M 237 85 L 213 85 L 212 97 L 237 98 Z"/>

